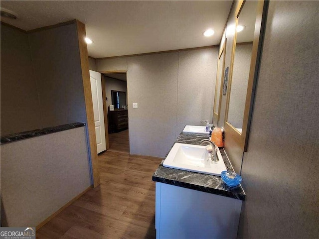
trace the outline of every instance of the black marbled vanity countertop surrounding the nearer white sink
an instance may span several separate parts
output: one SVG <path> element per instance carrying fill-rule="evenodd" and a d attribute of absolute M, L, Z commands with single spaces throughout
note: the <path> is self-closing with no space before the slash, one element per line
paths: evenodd
<path fill-rule="evenodd" d="M 205 138 L 209 138 L 209 136 L 202 133 L 181 132 L 175 140 L 175 143 L 199 145 L 200 140 Z M 234 169 L 230 164 L 224 148 L 219 148 L 219 150 L 223 157 L 227 170 L 234 172 Z M 241 185 L 231 188 L 228 187 L 219 176 L 167 168 L 163 166 L 163 161 L 160 163 L 158 169 L 153 174 L 153 181 L 167 183 L 183 188 L 194 189 L 206 193 L 213 193 L 239 200 L 245 200 L 245 192 Z"/>

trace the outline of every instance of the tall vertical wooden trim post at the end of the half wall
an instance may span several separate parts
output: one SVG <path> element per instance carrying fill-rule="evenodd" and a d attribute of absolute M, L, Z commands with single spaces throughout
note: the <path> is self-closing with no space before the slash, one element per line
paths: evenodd
<path fill-rule="evenodd" d="M 76 27 L 79 41 L 79 51 L 82 69 L 82 80 L 84 88 L 84 99 L 87 117 L 87 128 L 88 128 L 88 140 L 90 145 L 90 156 L 91 166 L 93 174 L 93 185 L 97 187 L 100 184 L 99 165 L 98 165 L 98 153 L 96 148 L 96 135 L 95 135 L 95 124 L 94 124 L 94 113 L 93 113 L 93 102 L 91 92 L 91 80 L 89 73 L 89 57 L 87 45 L 84 41 L 86 36 L 85 24 L 76 20 Z"/>

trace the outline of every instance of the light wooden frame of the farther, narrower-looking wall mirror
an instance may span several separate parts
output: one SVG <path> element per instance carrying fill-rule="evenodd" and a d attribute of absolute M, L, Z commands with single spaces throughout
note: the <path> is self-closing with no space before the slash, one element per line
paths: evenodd
<path fill-rule="evenodd" d="M 219 124 L 219 119 L 220 119 L 220 108 L 221 108 L 221 95 L 222 95 L 222 82 L 224 79 L 224 68 L 225 68 L 225 59 L 226 59 L 226 44 L 227 44 L 227 38 L 225 38 L 225 42 L 223 43 L 222 47 L 219 49 L 219 53 L 218 53 L 218 62 L 217 62 L 217 75 L 216 75 L 216 84 L 215 84 L 215 96 L 214 96 L 214 106 L 213 106 L 213 121 L 214 119 L 217 119 L 217 123 L 216 126 Z M 224 54 L 224 59 L 223 62 L 220 62 L 220 58 L 222 56 L 222 54 Z M 219 69 L 219 65 L 221 64 L 221 72 L 218 71 Z M 221 74 L 221 82 L 220 82 L 220 88 L 218 89 L 218 76 Z M 219 90 L 219 101 L 218 101 L 218 112 L 216 113 L 215 111 L 215 107 L 216 107 L 216 99 L 217 99 L 217 91 Z"/>

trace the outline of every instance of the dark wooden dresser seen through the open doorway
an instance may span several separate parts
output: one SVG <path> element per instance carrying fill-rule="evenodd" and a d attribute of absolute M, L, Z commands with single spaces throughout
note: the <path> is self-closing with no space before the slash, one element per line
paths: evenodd
<path fill-rule="evenodd" d="M 114 109 L 108 112 L 109 133 L 119 132 L 129 127 L 128 110 Z"/>

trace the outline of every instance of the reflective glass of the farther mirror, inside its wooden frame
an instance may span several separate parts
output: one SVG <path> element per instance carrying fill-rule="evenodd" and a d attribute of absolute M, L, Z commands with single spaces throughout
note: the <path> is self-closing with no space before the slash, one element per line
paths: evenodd
<path fill-rule="evenodd" d="M 220 105 L 220 93 L 221 93 L 221 85 L 224 76 L 224 61 L 225 59 L 225 44 L 221 48 L 221 53 L 218 58 L 217 64 L 217 78 L 216 78 L 216 88 L 215 88 L 215 101 L 214 101 L 214 117 L 216 117 L 216 122 L 218 124 L 219 121 L 219 105 Z"/>

